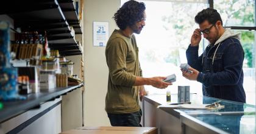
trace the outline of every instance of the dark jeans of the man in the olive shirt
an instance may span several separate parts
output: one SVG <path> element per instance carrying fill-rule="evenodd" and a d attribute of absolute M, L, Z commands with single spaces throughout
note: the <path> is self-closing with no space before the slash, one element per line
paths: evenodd
<path fill-rule="evenodd" d="M 141 109 L 134 113 L 113 114 L 107 113 L 112 126 L 141 127 Z"/>

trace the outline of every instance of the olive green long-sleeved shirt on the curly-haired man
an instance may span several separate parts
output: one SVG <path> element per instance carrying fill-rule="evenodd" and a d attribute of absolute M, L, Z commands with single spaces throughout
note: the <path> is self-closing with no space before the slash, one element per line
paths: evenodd
<path fill-rule="evenodd" d="M 108 66 L 108 89 L 105 98 L 107 113 L 133 113 L 138 105 L 139 86 L 133 86 L 142 76 L 135 36 L 126 37 L 114 30 L 105 49 Z"/>

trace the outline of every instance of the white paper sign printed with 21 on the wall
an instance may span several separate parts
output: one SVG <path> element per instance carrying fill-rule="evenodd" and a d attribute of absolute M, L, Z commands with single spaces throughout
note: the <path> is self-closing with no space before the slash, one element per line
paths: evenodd
<path fill-rule="evenodd" d="M 93 46 L 106 46 L 108 22 L 93 22 Z"/>

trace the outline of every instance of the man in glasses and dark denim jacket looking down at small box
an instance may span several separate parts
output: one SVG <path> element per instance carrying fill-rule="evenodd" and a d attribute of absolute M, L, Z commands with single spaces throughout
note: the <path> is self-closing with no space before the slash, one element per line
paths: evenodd
<path fill-rule="evenodd" d="M 204 9 L 194 19 L 199 29 L 194 30 L 186 52 L 188 65 L 191 66 L 189 70 L 192 72 L 182 69 L 182 75 L 189 80 L 201 82 L 204 96 L 245 103 L 241 33 L 224 29 L 221 16 L 215 9 Z M 199 56 L 201 35 L 210 44 Z"/>

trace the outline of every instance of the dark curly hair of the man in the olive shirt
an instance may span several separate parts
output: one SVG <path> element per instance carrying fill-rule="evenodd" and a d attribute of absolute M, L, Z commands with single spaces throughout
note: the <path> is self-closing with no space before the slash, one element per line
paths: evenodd
<path fill-rule="evenodd" d="M 138 21 L 141 21 L 145 9 L 146 7 L 143 2 L 130 0 L 118 9 L 113 18 L 119 29 L 124 30 L 127 26 L 133 26 Z"/>

